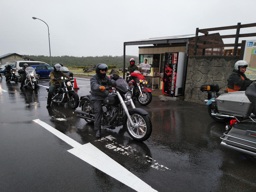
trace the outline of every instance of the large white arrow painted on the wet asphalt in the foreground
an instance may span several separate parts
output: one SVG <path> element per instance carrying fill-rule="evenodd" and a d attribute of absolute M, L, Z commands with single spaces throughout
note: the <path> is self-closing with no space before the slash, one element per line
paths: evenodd
<path fill-rule="evenodd" d="M 33 121 L 44 127 L 46 130 L 50 131 L 52 134 L 56 135 L 70 146 L 74 147 L 73 149 L 68 150 L 68 152 L 84 160 L 88 164 L 94 166 L 95 168 L 101 170 L 102 172 L 108 174 L 109 176 L 115 178 L 123 184 L 126 184 L 138 192 L 156 192 L 156 190 L 129 172 L 116 161 L 111 159 L 109 156 L 104 154 L 91 143 L 81 145 L 62 132 L 59 132 L 52 126 L 41 121 L 40 119 L 35 119 Z"/>

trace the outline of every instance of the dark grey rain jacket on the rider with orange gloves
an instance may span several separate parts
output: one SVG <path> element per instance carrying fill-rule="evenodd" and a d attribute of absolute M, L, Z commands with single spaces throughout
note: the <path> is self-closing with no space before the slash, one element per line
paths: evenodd
<path fill-rule="evenodd" d="M 104 86 L 101 84 L 102 81 L 106 81 L 108 86 L 116 87 L 116 81 L 110 79 L 108 76 L 101 77 L 98 74 L 92 76 L 90 78 L 91 84 L 91 100 L 103 100 L 108 96 L 108 91 L 100 90 L 100 86 Z"/>

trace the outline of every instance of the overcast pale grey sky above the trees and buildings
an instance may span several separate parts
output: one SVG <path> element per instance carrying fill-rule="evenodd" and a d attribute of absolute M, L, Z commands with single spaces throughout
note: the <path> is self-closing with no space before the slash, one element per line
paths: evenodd
<path fill-rule="evenodd" d="M 44 22 L 52 56 L 122 56 L 128 41 L 254 23 L 255 7 L 255 0 L 2 0 L 0 55 L 49 56 Z M 138 46 L 126 54 L 138 55 Z"/>

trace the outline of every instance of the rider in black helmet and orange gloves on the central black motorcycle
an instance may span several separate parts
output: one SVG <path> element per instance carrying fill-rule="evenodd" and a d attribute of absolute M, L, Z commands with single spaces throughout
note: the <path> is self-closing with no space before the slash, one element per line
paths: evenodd
<path fill-rule="evenodd" d="M 102 116 L 102 100 L 108 96 L 108 92 L 105 91 L 105 87 L 101 84 L 102 81 L 106 81 L 108 86 L 116 86 L 116 81 L 106 76 L 108 66 L 104 63 L 99 63 L 95 67 L 96 75 L 90 78 L 91 84 L 91 100 L 94 106 L 94 130 L 96 130 L 96 138 L 101 137 L 101 116 Z"/>

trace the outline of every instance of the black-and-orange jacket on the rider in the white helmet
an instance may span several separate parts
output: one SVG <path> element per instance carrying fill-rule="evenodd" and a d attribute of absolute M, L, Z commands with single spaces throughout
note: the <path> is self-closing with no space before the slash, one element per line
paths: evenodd
<path fill-rule="evenodd" d="M 233 70 L 233 72 L 228 77 L 228 88 L 226 88 L 226 92 L 235 92 L 235 91 L 245 91 L 246 88 L 253 81 L 248 79 L 245 74 L 240 71 Z"/>

